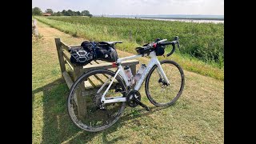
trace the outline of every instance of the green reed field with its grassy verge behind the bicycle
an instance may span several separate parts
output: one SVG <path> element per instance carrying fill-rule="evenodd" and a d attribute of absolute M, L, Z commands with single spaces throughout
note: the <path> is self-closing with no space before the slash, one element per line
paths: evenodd
<path fill-rule="evenodd" d="M 136 53 L 137 46 L 154 38 L 180 38 L 171 56 L 185 70 L 224 79 L 224 24 L 166 22 L 128 18 L 36 17 L 74 37 L 94 41 L 122 41 L 118 50 Z M 166 49 L 170 50 L 169 48 Z M 162 57 L 160 57 L 161 59 Z"/>

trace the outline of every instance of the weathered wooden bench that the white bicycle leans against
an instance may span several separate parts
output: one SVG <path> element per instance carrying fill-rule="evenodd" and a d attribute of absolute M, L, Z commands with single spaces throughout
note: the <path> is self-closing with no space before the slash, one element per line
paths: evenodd
<path fill-rule="evenodd" d="M 76 46 L 67 46 L 64 42 L 60 40 L 60 38 L 55 38 L 55 44 L 58 52 L 58 61 L 62 71 L 62 77 L 65 79 L 67 86 L 69 89 L 73 85 L 74 81 L 86 73 L 88 70 L 93 69 L 111 69 L 113 68 L 112 62 L 103 62 L 103 61 L 92 61 L 90 64 L 86 66 L 76 66 L 70 62 L 70 53 L 68 50 L 70 48 L 78 48 L 80 45 Z M 122 66 L 130 66 L 130 69 L 133 74 L 136 73 L 136 65 L 138 64 L 138 60 L 128 60 L 122 62 Z M 66 65 L 70 66 L 71 74 L 66 71 Z M 115 68 L 116 69 L 116 68 Z M 107 77 L 106 77 L 107 78 Z M 105 78 L 105 79 L 106 79 Z M 88 94 L 92 94 L 94 92 L 94 88 L 98 86 L 102 86 L 104 83 L 104 76 L 102 78 L 98 78 L 98 76 L 94 75 L 93 78 L 88 78 L 88 82 L 85 82 L 85 89 L 81 89 L 75 92 L 75 103 L 78 106 L 78 115 L 80 117 L 85 116 L 86 114 L 86 100 L 85 96 Z"/>

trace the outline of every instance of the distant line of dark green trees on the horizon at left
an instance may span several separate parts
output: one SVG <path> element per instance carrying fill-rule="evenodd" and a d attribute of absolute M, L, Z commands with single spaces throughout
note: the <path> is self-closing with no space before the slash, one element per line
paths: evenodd
<path fill-rule="evenodd" d="M 73 11 L 73 10 L 62 10 L 58 12 L 54 12 L 51 9 L 46 9 L 45 13 L 51 14 L 52 16 L 88 16 L 92 17 L 88 10 Z M 32 15 L 42 15 L 42 10 L 39 7 L 32 8 Z"/>

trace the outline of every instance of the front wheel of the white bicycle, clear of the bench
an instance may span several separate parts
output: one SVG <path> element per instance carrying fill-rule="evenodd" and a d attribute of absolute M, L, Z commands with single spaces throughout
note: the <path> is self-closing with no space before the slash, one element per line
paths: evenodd
<path fill-rule="evenodd" d="M 170 106 L 182 94 L 185 83 L 184 73 L 174 61 L 164 60 L 160 63 L 170 85 L 162 77 L 158 66 L 154 66 L 146 78 L 146 96 L 154 106 Z"/>

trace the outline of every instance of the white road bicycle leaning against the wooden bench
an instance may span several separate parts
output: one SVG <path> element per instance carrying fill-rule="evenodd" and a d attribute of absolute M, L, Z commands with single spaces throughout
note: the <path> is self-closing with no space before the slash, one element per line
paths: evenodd
<path fill-rule="evenodd" d="M 174 53 L 175 45 L 178 45 L 178 37 L 174 41 L 166 42 L 167 39 L 156 39 L 142 47 L 136 48 L 138 54 L 126 58 L 118 58 L 113 66 L 118 69 L 113 70 L 90 70 L 82 74 L 73 84 L 70 89 L 67 107 L 70 119 L 76 126 L 82 130 L 97 132 L 105 130 L 114 125 L 121 117 L 126 104 L 131 107 L 142 106 L 149 110 L 148 106 L 141 102 L 140 90 L 142 83 L 145 82 L 146 96 L 154 106 L 170 106 L 178 100 L 182 94 L 184 87 L 183 70 L 178 64 L 171 60 L 158 61 L 158 55 L 166 48 L 167 45 L 172 46 L 172 50 L 166 56 Z M 111 42 L 116 44 L 119 42 Z M 160 50 L 160 52 L 159 52 Z M 162 55 L 163 55 L 162 53 Z M 122 61 L 149 56 L 150 62 L 146 66 L 146 70 L 142 73 L 141 78 L 134 85 L 128 80 Z M 102 84 L 96 86 L 96 89 L 87 91 L 86 83 L 92 79 L 98 79 Z M 77 90 L 81 90 L 85 96 L 82 98 L 86 101 L 85 111 L 83 116 L 78 113 Z M 80 112 L 81 113 L 81 112 Z"/>

